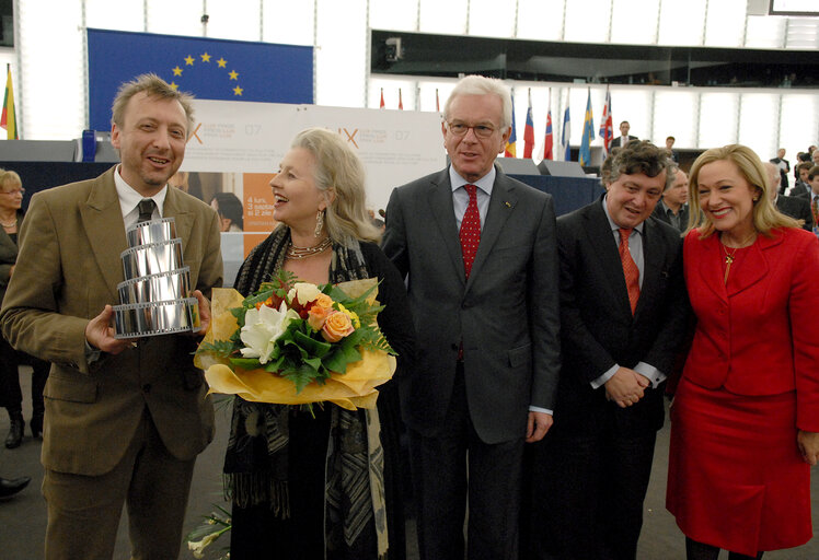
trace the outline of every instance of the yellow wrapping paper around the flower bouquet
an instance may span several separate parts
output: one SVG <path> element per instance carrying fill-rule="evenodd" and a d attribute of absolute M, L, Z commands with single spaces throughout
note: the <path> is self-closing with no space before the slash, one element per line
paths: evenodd
<path fill-rule="evenodd" d="M 338 284 L 348 296 L 357 295 L 377 284 L 374 278 L 355 280 Z M 374 299 L 374 291 L 372 299 Z M 239 325 L 230 312 L 233 307 L 241 307 L 244 298 L 229 288 L 214 289 L 210 302 L 210 328 L 205 335 L 204 342 L 228 340 L 235 332 Z M 245 371 L 229 365 L 228 360 L 211 352 L 197 353 L 194 363 L 205 370 L 205 381 L 210 390 L 224 395 L 238 395 L 254 402 L 275 402 L 279 405 L 305 405 L 310 402 L 330 401 L 348 410 L 356 408 L 374 408 L 378 390 L 376 387 L 392 378 L 395 373 L 395 358 L 383 351 L 362 351 L 362 359 L 347 364 L 344 374 L 333 373 L 324 385 L 313 382 L 296 394 L 296 385 L 284 377 L 264 370 Z"/>

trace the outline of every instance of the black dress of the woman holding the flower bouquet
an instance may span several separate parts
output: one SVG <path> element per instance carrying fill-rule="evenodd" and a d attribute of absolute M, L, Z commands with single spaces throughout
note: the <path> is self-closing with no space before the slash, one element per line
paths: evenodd
<path fill-rule="evenodd" d="M 384 305 L 379 326 L 397 352 L 395 376 L 408 368 L 415 351 L 415 331 L 404 282 L 399 271 L 372 243 L 361 243 L 361 254 L 370 278 L 381 282 L 378 300 Z M 397 385 L 392 380 L 378 387 L 381 445 L 384 452 L 384 492 L 389 536 L 388 558 L 406 557 L 402 488 L 405 468 L 400 446 L 401 413 Z M 241 508 L 233 503 L 231 559 L 323 559 L 324 550 L 324 460 L 327 453 L 330 409 L 313 407 L 315 418 L 291 407 L 289 413 L 288 492 L 289 517 L 282 520 L 269 503 Z M 359 410 L 359 415 L 364 411 Z M 365 442 L 366 443 L 366 442 Z M 264 444 L 264 442 L 254 442 Z M 355 549 L 327 550 L 328 559 L 376 559 L 376 520 L 356 541 Z"/>

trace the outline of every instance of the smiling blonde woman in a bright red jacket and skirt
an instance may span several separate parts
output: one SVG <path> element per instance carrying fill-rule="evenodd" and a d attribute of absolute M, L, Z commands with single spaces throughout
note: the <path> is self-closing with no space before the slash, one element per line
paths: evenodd
<path fill-rule="evenodd" d="M 685 284 L 696 330 L 671 408 L 668 510 L 688 559 L 807 542 L 819 459 L 819 242 L 776 211 L 743 145 L 690 178 Z"/>

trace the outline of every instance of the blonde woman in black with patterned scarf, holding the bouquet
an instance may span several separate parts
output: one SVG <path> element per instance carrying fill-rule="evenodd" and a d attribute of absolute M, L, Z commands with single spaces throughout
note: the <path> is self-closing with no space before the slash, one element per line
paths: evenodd
<path fill-rule="evenodd" d="M 361 161 L 338 135 L 310 128 L 296 136 L 270 187 L 279 225 L 247 256 L 235 289 L 249 295 L 279 270 L 315 284 L 378 278 L 378 323 L 400 377 L 415 332 L 404 283 L 365 212 Z M 403 559 L 394 383 L 379 386 L 378 413 L 328 402 L 313 413 L 234 400 L 224 459 L 230 558 L 377 560 L 387 537 L 389 558 Z"/>

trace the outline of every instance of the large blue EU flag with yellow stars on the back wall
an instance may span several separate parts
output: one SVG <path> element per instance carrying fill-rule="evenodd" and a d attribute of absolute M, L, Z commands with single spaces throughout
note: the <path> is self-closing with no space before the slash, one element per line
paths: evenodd
<path fill-rule="evenodd" d="M 201 100 L 313 103 L 313 49 L 272 43 L 88 30 L 89 125 L 111 129 L 124 82 L 153 72 Z"/>

